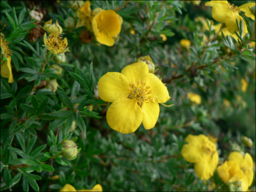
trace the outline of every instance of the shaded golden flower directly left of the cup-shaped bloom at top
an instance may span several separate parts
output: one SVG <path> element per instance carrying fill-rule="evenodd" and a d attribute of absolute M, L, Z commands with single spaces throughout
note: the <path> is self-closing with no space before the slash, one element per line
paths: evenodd
<path fill-rule="evenodd" d="M 76 11 L 76 16 L 79 18 L 76 28 L 86 26 L 87 29 L 91 29 L 91 3 L 86 1 L 86 3 L 79 10 Z"/>

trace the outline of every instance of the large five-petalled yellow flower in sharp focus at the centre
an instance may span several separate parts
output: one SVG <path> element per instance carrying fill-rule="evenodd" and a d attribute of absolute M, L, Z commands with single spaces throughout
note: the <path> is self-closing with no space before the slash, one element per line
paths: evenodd
<path fill-rule="evenodd" d="M 159 116 L 158 103 L 170 98 L 166 86 L 148 72 L 146 63 L 133 63 L 121 73 L 106 73 L 99 79 L 98 91 L 103 101 L 113 102 L 107 122 L 121 133 L 132 133 L 141 123 L 145 129 L 153 128 Z"/>

